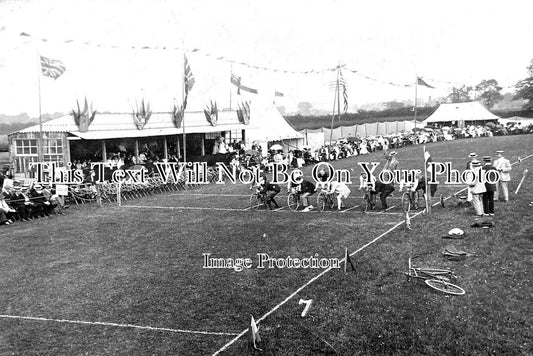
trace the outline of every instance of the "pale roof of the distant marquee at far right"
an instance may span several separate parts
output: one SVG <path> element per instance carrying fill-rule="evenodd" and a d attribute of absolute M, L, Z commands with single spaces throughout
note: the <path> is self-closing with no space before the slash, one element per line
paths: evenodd
<path fill-rule="evenodd" d="M 477 101 L 470 103 L 440 104 L 440 106 L 426 120 L 425 124 L 431 122 L 449 121 L 485 121 L 497 120 L 494 115 Z"/>

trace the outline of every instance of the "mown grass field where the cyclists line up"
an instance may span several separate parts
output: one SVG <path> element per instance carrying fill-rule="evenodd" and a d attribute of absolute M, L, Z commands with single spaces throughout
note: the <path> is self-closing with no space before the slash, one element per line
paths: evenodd
<path fill-rule="evenodd" d="M 480 138 L 427 149 L 435 161 L 463 170 L 472 151 L 504 149 L 511 162 L 531 155 L 532 139 Z M 398 159 L 401 169 L 421 168 L 422 147 L 400 149 Z M 356 162 L 363 160 L 383 161 L 375 153 L 334 163 L 354 169 L 348 208 L 361 203 L 355 183 Z M 456 198 L 431 216 L 411 214 L 408 231 L 399 225 L 397 192 L 386 213 L 270 212 L 248 209 L 250 190 L 232 184 L 123 207 L 77 206 L 67 215 L 2 226 L 0 354 L 209 355 L 224 345 L 222 355 L 532 354 L 531 174 L 514 195 L 525 168 L 533 170 L 533 157 L 513 165 L 511 202 L 496 203 L 493 229 L 470 228 L 473 210 Z M 442 186 L 437 195 L 460 189 Z M 286 205 L 284 197 L 279 201 Z M 467 236 L 442 239 L 453 227 Z M 441 250 L 450 243 L 475 255 L 447 261 Z M 256 268 L 257 253 L 341 259 L 345 247 L 358 251 L 355 272 Z M 204 269 L 204 253 L 249 257 L 254 266 Z M 466 294 L 406 281 L 411 255 L 420 255 L 419 265 L 454 270 Z M 313 299 L 305 317 L 300 298 Z M 238 336 L 250 314 L 259 321 L 263 352 L 252 349 L 248 334 Z"/>

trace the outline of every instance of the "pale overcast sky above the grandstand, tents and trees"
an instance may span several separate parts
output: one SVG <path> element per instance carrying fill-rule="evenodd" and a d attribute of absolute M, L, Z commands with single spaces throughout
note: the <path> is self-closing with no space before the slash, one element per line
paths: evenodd
<path fill-rule="evenodd" d="M 273 69 L 338 63 L 358 71 L 344 71 L 350 110 L 412 100 L 413 88 L 382 82 L 411 84 L 416 75 L 437 87 L 419 88 L 423 99 L 446 96 L 447 82 L 494 78 L 507 87 L 526 77 L 533 59 L 532 13 L 527 0 L 0 1 L 0 113 L 37 115 L 38 53 L 67 67 L 57 80 L 41 77 L 43 113 L 67 112 L 84 96 L 99 111 L 131 111 L 143 97 L 168 111 L 174 98 L 181 101 L 181 48 L 196 79 L 190 110 L 210 99 L 228 107 L 231 91 L 235 106 L 230 72 L 259 90 L 248 99 L 272 102 L 277 90 L 285 97 L 276 104 L 287 111 L 301 101 L 331 110 L 335 72 Z"/>

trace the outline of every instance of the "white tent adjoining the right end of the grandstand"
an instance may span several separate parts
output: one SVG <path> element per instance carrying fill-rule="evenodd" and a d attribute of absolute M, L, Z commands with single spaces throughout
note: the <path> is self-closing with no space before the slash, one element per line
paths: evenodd
<path fill-rule="evenodd" d="M 269 142 L 278 142 L 287 151 L 302 147 L 304 135 L 293 129 L 274 105 L 253 105 L 250 124 L 246 127 L 246 141 L 260 143 L 263 150 Z"/>

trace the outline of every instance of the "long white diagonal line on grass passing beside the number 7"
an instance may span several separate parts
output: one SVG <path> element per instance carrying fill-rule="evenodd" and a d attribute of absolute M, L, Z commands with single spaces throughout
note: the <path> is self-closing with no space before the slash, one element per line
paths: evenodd
<path fill-rule="evenodd" d="M 529 156 L 526 156 L 524 158 L 522 158 L 521 160 L 525 160 L 525 159 L 528 159 L 529 157 L 532 157 L 533 154 L 530 154 Z M 512 163 L 511 165 L 514 165 L 516 163 L 519 163 L 519 161 L 516 161 L 514 163 Z M 462 192 L 463 190 L 466 190 L 467 188 L 463 188 L 461 190 L 459 190 L 458 192 L 456 192 L 454 195 Z M 454 195 L 450 195 L 448 196 L 447 198 L 445 198 L 444 200 L 448 200 L 450 199 L 451 197 L 453 197 Z M 437 202 L 435 204 L 433 204 L 433 206 L 436 206 L 440 204 L 440 202 Z M 419 211 L 418 213 L 414 214 L 411 219 L 414 219 L 416 218 L 417 216 L 419 216 L 420 214 L 424 213 L 425 210 L 422 210 L 422 211 Z M 382 233 L 381 235 L 379 235 L 378 237 L 376 237 L 375 239 L 373 239 L 372 241 L 369 241 L 367 242 L 365 245 L 361 246 L 359 249 L 355 250 L 354 252 L 352 252 L 349 256 L 352 257 L 354 256 L 355 254 L 359 253 L 360 251 L 364 250 L 365 248 L 367 248 L 368 246 L 372 245 L 373 243 L 375 243 L 376 241 L 378 241 L 379 239 L 381 239 L 383 236 L 387 235 L 388 233 L 392 232 L 393 230 L 395 230 L 396 228 L 398 228 L 399 226 L 405 224 L 405 220 L 402 220 L 400 221 L 399 223 L 397 223 L 396 225 L 394 225 L 393 227 L 391 227 L 389 230 L 385 231 L 384 233 Z M 343 258 L 342 260 L 340 260 L 339 262 L 340 263 L 344 263 L 346 262 L 345 261 L 346 259 Z M 263 321 L 264 319 L 266 319 L 270 314 L 274 313 L 276 310 L 278 310 L 280 307 L 282 307 L 285 303 L 287 303 L 289 300 L 291 300 L 292 298 L 294 298 L 294 296 L 296 296 L 298 293 L 300 293 L 303 289 L 305 289 L 307 286 L 309 286 L 311 283 L 313 283 L 314 281 L 316 281 L 317 279 L 319 279 L 320 277 L 322 277 L 324 274 L 326 274 L 327 272 L 329 272 L 330 270 L 332 270 L 333 268 L 329 267 L 327 269 L 325 269 L 324 271 L 322 271 L 321 273 L 319 273 L 318 275 L 316 275 L 315 277 L 311 278 L 307 283 L 305 283 L 303 286 L 301 286 L 300 288 L 298 288 L 295 292 L 293 292 L 292 294 L 290 294 L 287 298 L 285 298 L 283 301 L 281 301 L 278 305 L 276 305 L 274 308 L 272 308 L 270 311 L 268 311 L 266 314 L 264 314 L 262 317 L 260 317 L 259 319 L 257 319 L 256 323 L 259 324 L 261 321 Z M 220 349 L 218 349 L 214 354 L 213 356 L 217 356 L 219 355 L 221 352 L 225 351 L 228 349 L 228 347 L 230 347 L 231 345 L 233 345 L 237 340 L 239 340 L 241 337 L 243 337 L 247 332 L 249 331 L 249 328 L 248 329 L 245 329 L 243 331 L 241 331 L 237 336 L 235 336 L 233 339 L 231 339 L 230 341 L 228 341 L 225 345 L 223 345 Z"/>

